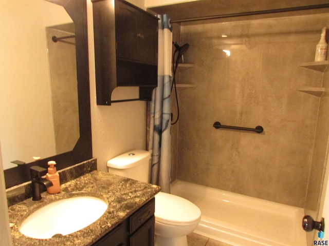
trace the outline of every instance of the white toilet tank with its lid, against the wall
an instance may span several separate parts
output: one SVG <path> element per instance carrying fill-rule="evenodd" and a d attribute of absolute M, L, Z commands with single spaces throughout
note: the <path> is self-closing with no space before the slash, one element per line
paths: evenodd
<path fill-rule="evenodd" d="M 108 172 L 148 183 L 150 158 L 149 151 L 128 151 L 107 161 Z"/>

